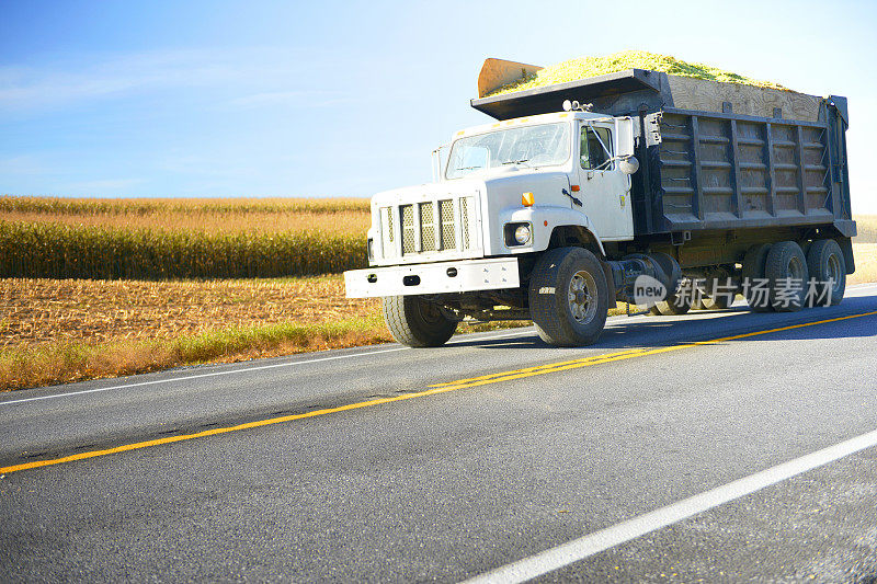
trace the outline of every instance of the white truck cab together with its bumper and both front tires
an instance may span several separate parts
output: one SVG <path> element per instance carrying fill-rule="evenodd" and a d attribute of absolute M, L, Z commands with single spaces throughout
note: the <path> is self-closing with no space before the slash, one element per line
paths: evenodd
<path fill-rule="evenodd" d="M 566 306 L 579 311 L 583 330 L 543 336 L 595 341 L 614 296 L 612 270 L 597 257 L 605 257 L 604 242 L 634 238 L 635 126 L 574 102 L 565 110 L 460 130 L 437 182 L 375 195 L 369 267 L 344 273 L 348 297 L 383 297 L 390 331 L 412 346 L 444 344 L 467 316 L 533 318 L 538 328 L 544 319 L 533 307 L 555 288 L 531 298 L 532 274 L 547 251 L 576 247 L 600 272 L 570 284 L 578 304 Z"/>

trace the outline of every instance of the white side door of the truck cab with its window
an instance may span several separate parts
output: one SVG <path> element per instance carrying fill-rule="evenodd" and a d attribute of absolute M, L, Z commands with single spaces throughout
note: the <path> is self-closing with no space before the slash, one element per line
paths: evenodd
<path fill-rule="evenodd" d="M 630 210 L 630 178 L 613 160 L 613 124 L 582 123 L 579 129 L 579 198 L 597 234 L 604 240 L 630 240 L 634 214 Z"/>

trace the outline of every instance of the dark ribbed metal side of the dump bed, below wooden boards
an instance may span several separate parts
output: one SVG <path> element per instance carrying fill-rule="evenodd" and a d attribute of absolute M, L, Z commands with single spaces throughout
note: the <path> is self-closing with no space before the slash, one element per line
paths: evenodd
<path fill-rule="evenodd" d="M 635 181 L 639 232 L 836 224 L 850 236 L 844 123 L 664 108 Z M 648 181 L 648 184 L 646 184 Z"/>

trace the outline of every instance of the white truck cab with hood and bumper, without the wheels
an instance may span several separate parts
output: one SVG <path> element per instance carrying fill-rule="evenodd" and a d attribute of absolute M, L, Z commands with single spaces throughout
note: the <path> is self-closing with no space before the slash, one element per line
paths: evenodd
<path fill-rule="evenodd" d="M 633 127 L 571 111 L 457 131 L 438 182 L 372 198 L 373 267 L 344 273 L 348 296 L 516 287 L 515 256 L 548 249 L 558 228 L 583 230 L 601 251 L 633 239 L 622 163 Z"/>

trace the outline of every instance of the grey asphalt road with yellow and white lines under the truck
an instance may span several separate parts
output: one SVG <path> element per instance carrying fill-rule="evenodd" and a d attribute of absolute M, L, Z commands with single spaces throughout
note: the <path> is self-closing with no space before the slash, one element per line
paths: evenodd
<path fill-rule="evenodd" d="M 875 354 L 865 285 L 5 393 L 0 581 L 875 582 Z"/>

